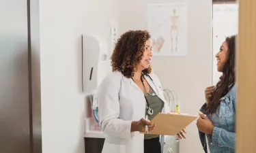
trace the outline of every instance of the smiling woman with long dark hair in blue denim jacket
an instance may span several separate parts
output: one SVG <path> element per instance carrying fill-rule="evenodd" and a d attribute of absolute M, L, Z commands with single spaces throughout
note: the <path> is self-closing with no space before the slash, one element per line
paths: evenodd
<path fill-rule="evenodd" d="M 203 114 L 199 113 L 197 128 L 206 153 L 208 149 L 211 153 L 235 152 L 235 52 L 236 35 L 232 35 L 225 39 L 220 51 L 216 54 L 217 69 L 223 75 L 216 86 L 205 89 L 206 103 L 200 109 Z"/>

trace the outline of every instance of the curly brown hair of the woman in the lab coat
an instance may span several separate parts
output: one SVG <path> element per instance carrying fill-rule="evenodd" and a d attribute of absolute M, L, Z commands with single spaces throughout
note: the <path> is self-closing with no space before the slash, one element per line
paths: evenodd
<path fill-rule="evenodd" d="M 112 71 L 120 71 L 126 78 L 132 78 L 145 52 L 145 42 L 150 39 L 148 31 L 128 31 L 121 35 L 111 56 Z M 152 67 L 143 70 L 151 73 Z"/>

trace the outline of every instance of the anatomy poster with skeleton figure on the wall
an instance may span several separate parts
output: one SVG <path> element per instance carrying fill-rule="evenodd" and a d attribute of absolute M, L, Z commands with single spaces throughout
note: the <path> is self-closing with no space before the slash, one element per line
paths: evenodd
<path fill-rule="evenodd" d="M 186 56 L 187 26 L 186 3 L 149 4 L 147 28 L 154 56 Z"/>

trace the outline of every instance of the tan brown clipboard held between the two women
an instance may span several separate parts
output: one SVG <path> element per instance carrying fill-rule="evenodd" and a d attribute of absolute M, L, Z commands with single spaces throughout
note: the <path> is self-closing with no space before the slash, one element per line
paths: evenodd
<path fill-rule="evenodd" d="M 177 135 L 182 129 L 184 129 L 188 124 L 197 119 L 198 116 L 191 116 L 188 114 L 177 114 L 177 113 L 159 113 L 157 114 L 151 122 L 156 124 L 154 130 L 149 131 L 147 134 L 151 135 Z M 145 126 L 142 127 L 145 131 Z M 143 132 L 145 133 L 145 132 Z"/>

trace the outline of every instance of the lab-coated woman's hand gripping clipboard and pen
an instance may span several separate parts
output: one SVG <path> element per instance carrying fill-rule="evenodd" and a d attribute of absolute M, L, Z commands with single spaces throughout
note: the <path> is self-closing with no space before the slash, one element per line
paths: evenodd
<path fill-rule="evenodd" d="M 146 125 L 148 128 L 148 132 L 154 130 L 155 124 L 150 122 L 150 120 L 141 118 L 141 120 L 139 121 L 132 121 L 130 132 L 134 132 L 134 131 L 145 132 Z"/>

